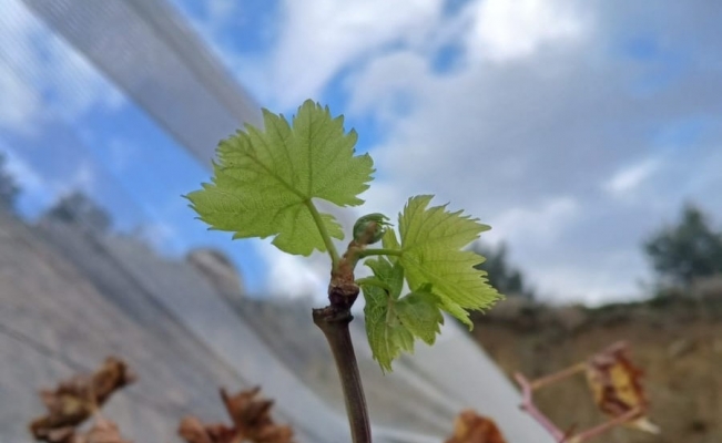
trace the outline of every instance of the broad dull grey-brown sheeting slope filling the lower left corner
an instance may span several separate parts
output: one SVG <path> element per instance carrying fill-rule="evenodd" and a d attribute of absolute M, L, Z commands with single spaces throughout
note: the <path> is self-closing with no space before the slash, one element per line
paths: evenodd
<path fill-rule="evenodd" d="M 52 247 L 58 236 L 67 248 Z M 0 441 L 30 442 L 27 424 L 43 412 L 38 390 L 93 371 L 109 354 L 140 374 L 104 408 L 124 435 L 172 442 L 185 414 L 223 420 L 217 387 L 236 390 L 245 381 L 88 236 L 82 226 L 35 229 L 0 210 Z M 85 270 L 75 266 L 82 257 Z M 305 441 L 315 436 L 299 430 Z"/>

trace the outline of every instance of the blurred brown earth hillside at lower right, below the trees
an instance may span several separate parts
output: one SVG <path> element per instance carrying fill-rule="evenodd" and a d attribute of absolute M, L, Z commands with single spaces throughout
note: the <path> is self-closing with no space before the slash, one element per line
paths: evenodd
<path fill-rule="evenodd" d="M 722 293 L 598 309 L 549 308 L 507 300 L 476 318 L 475 338 L 508 374 L 537 378 L 579 362 L 618 340 L 644 372 L 650 416 L 661 435 L 618 429 L 596 442 L 722 442 Z M 582 375 L 540 390 L 542 411 L 561 429 L 603 420 Z"/>

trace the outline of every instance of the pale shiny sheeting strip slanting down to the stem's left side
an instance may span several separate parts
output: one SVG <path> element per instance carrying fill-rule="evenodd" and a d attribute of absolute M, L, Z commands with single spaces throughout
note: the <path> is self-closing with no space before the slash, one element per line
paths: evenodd
<path fill-rule="evenodd" d="M 314 435 L 313 441 L 346 440 L 345 418 L 331 411 L 286 367 L 278 364 L 256 334 L 238 321 L 189 265 L 162 259 L 132 238 L 98 236 L 55 222 L 43 223 L 41 231 L 96 287 L 103 288 L 105 297 L 142 327 L 151 327 L 159 317 L 180 321 L 240 374 L 240 388 L 258 384 L 264 395 L 275 399 L 274 411 L 279 420 Z M 166 340 L 174 339 L 166 336 Z M 213 390 L 213 385 L 206 389 Z M 204 413 L 202 409 L 197 412 Z"/>

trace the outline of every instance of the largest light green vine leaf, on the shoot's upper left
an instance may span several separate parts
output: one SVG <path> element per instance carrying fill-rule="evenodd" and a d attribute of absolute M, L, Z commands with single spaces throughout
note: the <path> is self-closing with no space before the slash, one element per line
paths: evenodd
<path fill-rule="evenodd" d="M 275 236 L 273 244 L 289 254 L 325 251 L 329 237 L 344 234 L 313 198 L 360 205 L 373 161 L 355 155 L 356 132 L 344 132 L 343 116 L 332 119 L 311 100 L 293 125 L 266 110 L 263 119 L 265 131 L 246 125 L 220 143 L 213 183 L 187 195 L 191 206 L 212 229 L 233 231 L 233 238 Z"/>

